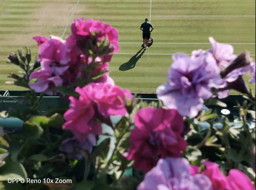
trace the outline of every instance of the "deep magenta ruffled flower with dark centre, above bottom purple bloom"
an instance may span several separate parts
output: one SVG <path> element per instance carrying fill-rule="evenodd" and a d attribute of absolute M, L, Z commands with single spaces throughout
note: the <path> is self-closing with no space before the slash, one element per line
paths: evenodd
<path fill-rule="evenodd" d="M 134 159 L 138 170 L 148 172 L 160 158 L 180 157 L 187 143 L 181 137 L 183 117 L 176 110 L 145 108 L 139 110 L 131 133 L 128 160 Z"/>

